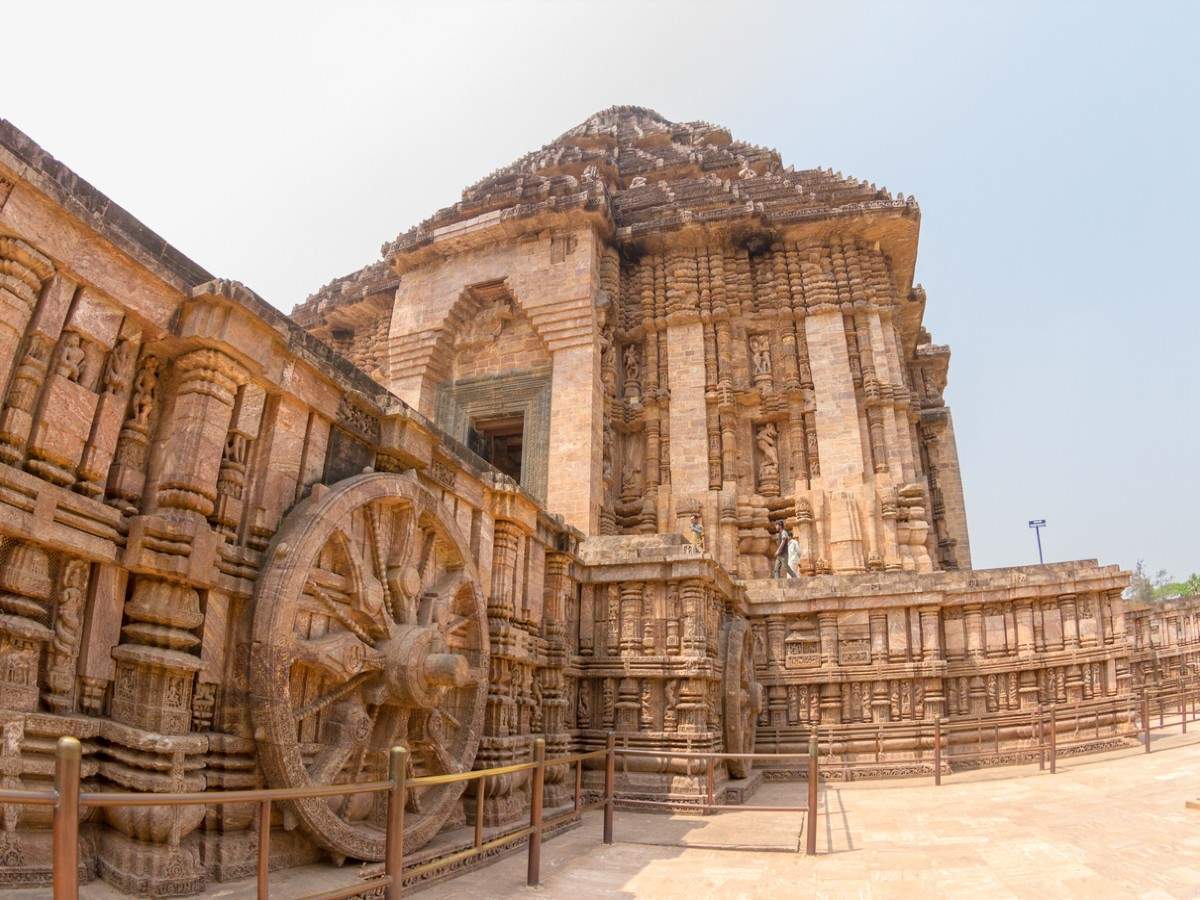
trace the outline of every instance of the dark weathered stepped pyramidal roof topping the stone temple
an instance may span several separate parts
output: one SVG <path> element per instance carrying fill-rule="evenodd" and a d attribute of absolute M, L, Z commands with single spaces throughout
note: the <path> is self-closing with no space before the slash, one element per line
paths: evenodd
<path fill-rule="evenodd" d="M 415 251 L 493 224 L 582 212 L 628 242 L 694 224 L 743 221 L 774 230 L 871 211 L 919 217 L 912 197 L 833 169 L 784 166 L 778 151 L 734 140 L 720 125 L 616 106 L 470 185 L 457 203 L 385 244 L 386 264 L 335 278 L 293 316 L 307 322 L 330 301 L 385 289 L 396 270 L 418 264 Z"/>

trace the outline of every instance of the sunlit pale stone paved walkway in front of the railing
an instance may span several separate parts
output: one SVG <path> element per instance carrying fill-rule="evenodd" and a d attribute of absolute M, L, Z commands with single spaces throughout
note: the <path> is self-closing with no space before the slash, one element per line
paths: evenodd
<path fill-rule="evenodd" d="M 942 787 L 832 784 L 816 858 L 803 854 L 802 814 L 618 811 L 608 847 L 593 814 L 544 845 L 538 890 L 524 886 L 521 853 L 419 896 L 1200 898 L 1200 810 L 1184 805 L 1200 796 L 1200 742 L 1187 740 L 1064 760 L 1054 776 L 1022 767 Z M 803 804 L 803 791 L 766 785 L 752 802 Z"/>

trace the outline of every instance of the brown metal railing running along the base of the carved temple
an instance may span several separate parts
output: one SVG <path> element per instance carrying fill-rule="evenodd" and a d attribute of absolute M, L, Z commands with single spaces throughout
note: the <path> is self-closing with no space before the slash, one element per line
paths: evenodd
<path fill-rule="evenodd" d="M 1189 710 L 1190 706 L 1190 710 Z M 1178 715 L 1182 731 L 1186 734 L 1189 721 L 1200 720 L 1200 682 L 1184 682 L 1180 679 L 1176 686 L 1144 688 L 1139 695 L 1130 697 L 1114 698 L 1074 706 L 1050 706 L 1034 710 L 1028 716 L 1009 716 L 1013 721 L 1020 719 L 1028 722 L 1028 743 L 1021 743 L 1015 751 L 1025 754 L 1038 754 L 1039 768 L 1044 769 L 1046 762 L 1050 766 L 1050 774 L 1057 773 L 1058 755 L 1062 750 L 1082 746 L 1092 743 L 1094 738 L 1063 742 L 1060 739 L 1060 724 L 1063 721 L 1078 720 L 1090 715 L 1096 720 L 1097 737 L 1099 737 L 1099 716 L 1103 709 L 1109 709 L 1110 722 L 1117 721 L 1118 715 L 1124 715 L 1126 721 L 1138 720 L 1138 733 L 1145 744 L 1146 752 L 1151 751 L 1151 732 L 1154 730 L 1175 727 L 1177 722 L 1174 716 Z M 1158 724 L 1153 722 L 1154 713 L 1158 714 Z M 1171 719 L 1168 719 L 1168 715 Z M 994 748 L 983 749 L 983 725 L 973 721 L 943 721 L 941 718 L 932 721 L 932 768 L 934 784 L 942 784 L 943 762 L 970 762 L 995 756 L 1001 749 L 1000 726 L 992 728 Z M 1006 726 L 1007 727 L 1007 726 Z M 956 732 L 976 731 L 979 750 L 971 752 L 949 752 L 952 749 L 950 737 Z M 613 820 L 616 804 L 623 806 L 650 806 L 678 809 L 680 803 L 688 803 L 691 810 L 703 812 L 722 812 L 738 810 L 743 812 L 805 812 L 805 852 L 809 856 L 816 854 L 816 821 L 818 815 L 818 782 L 822 774 L 844 770 L 846 766 L 858 766 L 870 763 L 829 761 L 822 763 L 821 746 L 818 742 L 818 727 L 814 727 L 808 736 L 806 752 L 754 752 L 754 754 L 727 754 L 727 752 L 703 752 L 703 751 L 661 751 L 661 750 L 637 750 L 630 748 L 617 748 L 616 736 L 608 732 L 605 746 L 589 752 L 570 754 L 566 756 L 546 758 L 546 742 L 536 738 L 533 746 L 533 760 L 530 762 L 514 763 L 511 766 L 497 766 L 490 769 L 474 769 L 470 772 L 458 772 L 446 775 L 422 775 L 408 778 L 408 751 L 402 746 L 394 746 L 388 756 L 388 779 L 384 781 L 368 781 L 361 784 L 346 785 L 320 785 L 312 787 L 278 787 L 256 788 L 244 791 L 196 791 L 188 793 L 124 793 L 124 792 L 85 792 L 80 791 L 80 763 L 82 746 L 76 738 L 59 738 L 55 749 L 54 787 L 44 791 L 7 790 L 0 788 L 0 804 L 18 804 L 53 808 L 53 838 L 52 838 L 52 864 L 54 900 L 77 900 L 79 895 L 79 811 L 83 808 L 103 806 L 188 806 L 188 805 L 222 805 L 227 803 L 254 803 L 258 805 L 258 846 L 257 846 L 257 890 L 259 900 L 269 896 L 269 869 L 270 869 L 270 840 L 271 840 L 271 810 L 272 804 L 284 800 L 299 800 L 312 797 L 344 797 L 360 793 L 388 793 L 388 806 L 384 829 L 384 862 L 383 871 L 370 878 L 354 882 L 344 888 L 329 890 L 320 894 L 312 894 L 304 900 L 340 900 L 365 892 L 383 889 L 388 900 L 396 900 L 401 895 L 404 876 L 409 878 L 421 878 L 438 870 L 445 869 L 461 862 L 481 856 L 504 845 L 515 844 L 528 839 L 527 844 L 527 870 L 526 881 L 530 887 L 538 886 L 541 872 L 541 842 L 546 829 L 557 828 L 566 822 L 578 820 L 584 812 L 594 809 L 604 809 L 604 833 L 605 844 L 613 842 Z M 923 744 L 924 746 L 924 744 Z M 832 748 L 832 744 L 830 744 Z M 688 760 L 689 770 L 691 760 L 704 761 L 704 786 L 703 794 L 695 798 L 674 799 L 644 799 L 637 797 L 618 797 L 616 794 L 616 764 L 617 757 L 655 757 L 667 760 Z M 583 802 L 583 763 L 604 760 L 604 792 L 599 799 L 590 803 Z M 716 803 L 716 766 L 721 760 L 744 758 L 752 761 L 780 761 L 803 760 L 808 768 L 806 798 L 804 805 L 794 806 L 766 806 L 754 804 L 725 804 Z M 889 764 L 889 763 L 880 763 Z M 545 818 L 545 784 L 546 769 L 571 766 L 575 768 L 574 802 L 569 809 L 558 812 L 550 820 Z M 487 779 L 517 773 L 530 773 L 529 792 L 529 823 L 514 828 L 500 834 L 484 838 L 484 785 Z M 404 805 L 408 791 L 436 785 L 448 785 L 463 781 L 478 781 L 475 793 L 475 818 L 474 836 L 472 846 L 436 857 L 410 869 L 404 869 Z M 698 800 L 692 804 L 691 800 Z"/>

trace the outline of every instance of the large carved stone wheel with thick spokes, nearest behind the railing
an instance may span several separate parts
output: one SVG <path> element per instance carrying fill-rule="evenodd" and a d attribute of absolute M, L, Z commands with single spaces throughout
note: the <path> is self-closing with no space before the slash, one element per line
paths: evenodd
<path fill-rule="evenodd" d="M 388 749 L 409 776 L 472 767 L 487 696 L 487 616 L 462 533 L 415 480 L 358 475 L 287 517 L 254 594 L 251 701 L 272 787 L 377 781 Z M 464 782 L 410 790 L 404 845 L 426 844 Z M 386 794 L 284 811 L 335 860 L 383 859 Z"/>

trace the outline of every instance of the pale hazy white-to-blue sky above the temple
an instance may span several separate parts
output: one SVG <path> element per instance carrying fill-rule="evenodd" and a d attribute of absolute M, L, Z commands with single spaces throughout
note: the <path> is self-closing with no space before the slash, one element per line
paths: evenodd
<path fill-rule="evenodd" d="M 614 103 L 917 196 L 977 568 L 1200 570 L 1200 5 L 5 4 L 0 115 L 287 311 Z"/>

